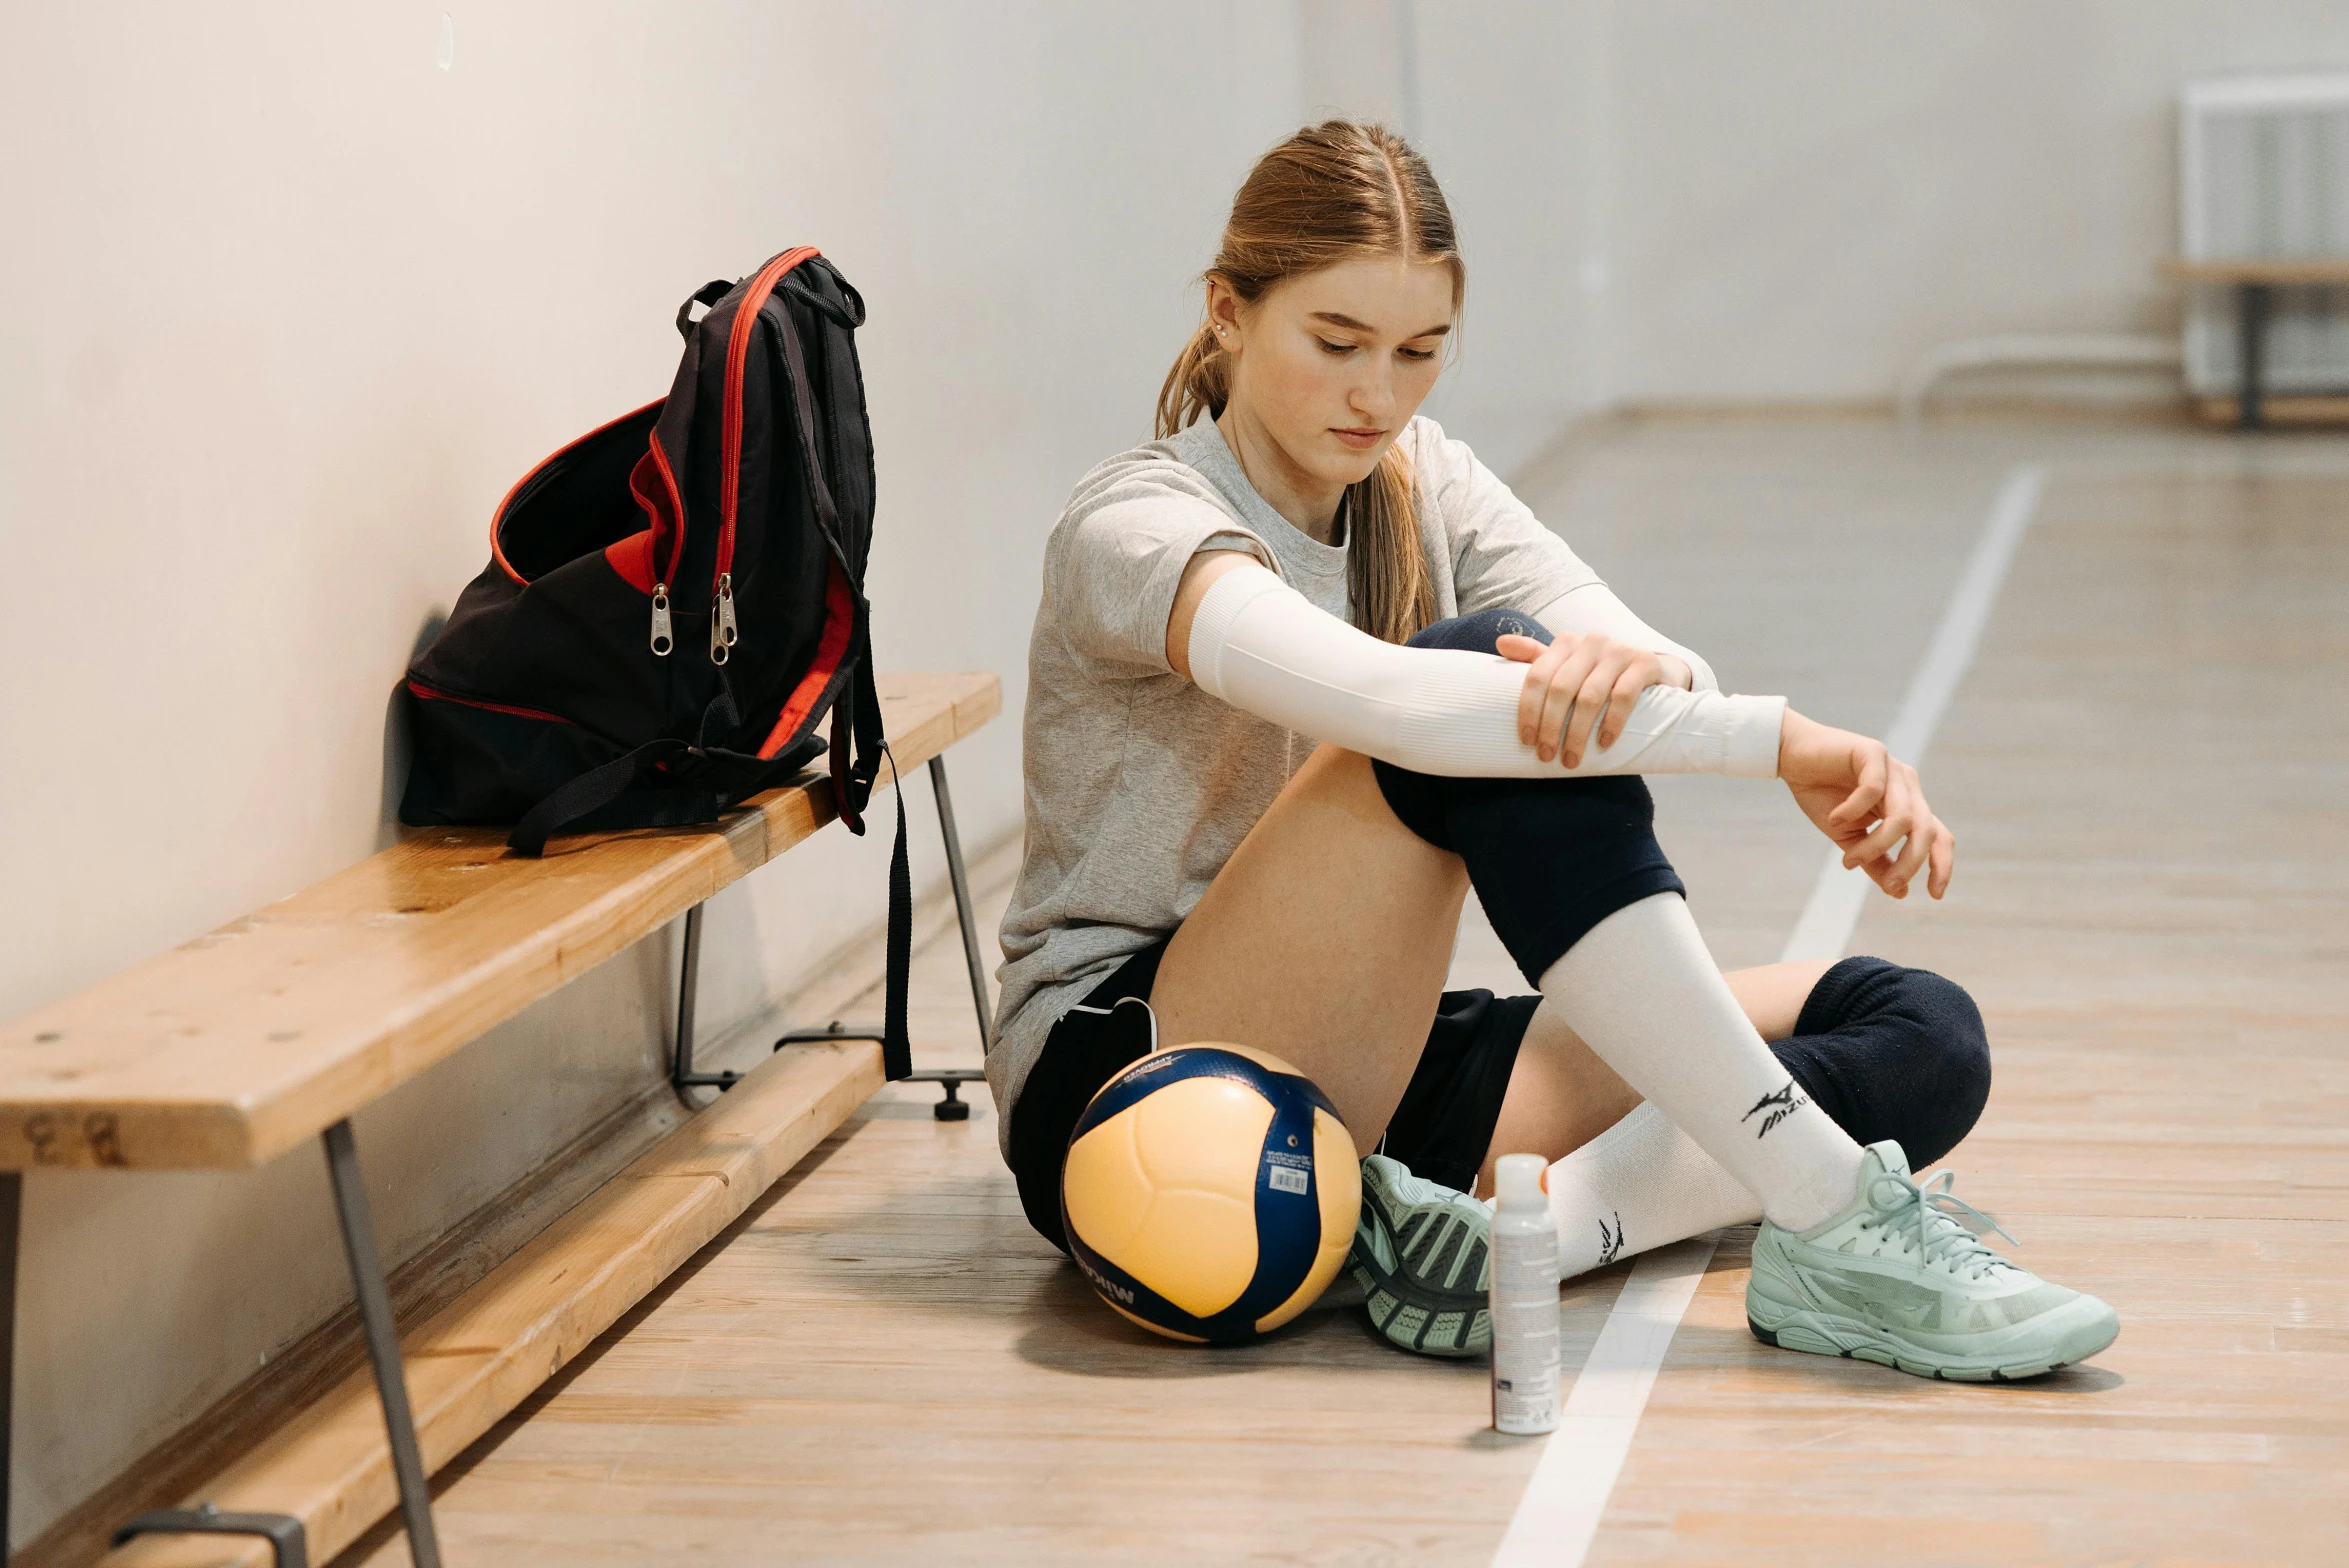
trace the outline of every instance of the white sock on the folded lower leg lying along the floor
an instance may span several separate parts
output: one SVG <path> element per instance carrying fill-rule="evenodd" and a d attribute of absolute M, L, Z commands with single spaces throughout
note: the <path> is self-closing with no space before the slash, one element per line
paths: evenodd
<path fill-rule="evenodd" d="M 1762 1199 L 1654 1106 L 1550 1167 L 1557 1277 L 1762 1218 Z"/>

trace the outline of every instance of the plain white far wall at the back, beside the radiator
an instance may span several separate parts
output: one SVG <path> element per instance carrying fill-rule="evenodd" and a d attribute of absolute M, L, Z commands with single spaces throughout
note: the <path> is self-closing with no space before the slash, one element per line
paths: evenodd
<path fill-rule="evenodd" d="M 1886 397 L 1997 331 L 2170 331 L 2189 75 L 2349 63 L 2340 0 L 1600 0 L 1602 401 Z"/>

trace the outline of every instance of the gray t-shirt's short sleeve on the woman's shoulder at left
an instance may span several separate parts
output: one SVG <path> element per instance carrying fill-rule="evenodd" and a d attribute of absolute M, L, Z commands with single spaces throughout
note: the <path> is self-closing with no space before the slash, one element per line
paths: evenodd
<path fill-rule="evenodd" d="M 1198 552 L 1245 549 L 1280 570 L 1264 540 L 1165 474 L 1085 500 L 1071 505 L 1045 547 L 1043 617 L 1099 676 L 1172 674 L 1167 620 Z"/>

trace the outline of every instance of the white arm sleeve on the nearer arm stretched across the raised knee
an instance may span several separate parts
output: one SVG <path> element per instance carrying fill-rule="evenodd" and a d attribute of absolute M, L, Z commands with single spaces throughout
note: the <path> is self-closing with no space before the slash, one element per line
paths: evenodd
<path fill-rule="evenodd" d="M 1623 735 L 1581 768 L 1517 739 L 1525 664 L 1489 653 L 1398 648 L 1355 631 L 1261 566 L 1217 577 L 1191 620 L 1191 681 L 1224 702 L 1384 763 L 1447 777 L 1607 772 L 1778 775 L 1783 697 L 1651 685 Z"/>

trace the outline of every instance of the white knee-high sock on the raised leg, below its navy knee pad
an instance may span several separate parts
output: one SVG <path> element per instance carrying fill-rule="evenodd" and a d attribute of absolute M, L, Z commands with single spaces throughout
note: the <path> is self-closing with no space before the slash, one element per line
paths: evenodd
<path fill-rule="evenodd" d="M 1680 894 L 1600 920 L 1541 976 L 1541 995 L 1771 1221 L 1809 1230 L 1851 1207 L 1860 1145 L 1762 1045 Z"/>

